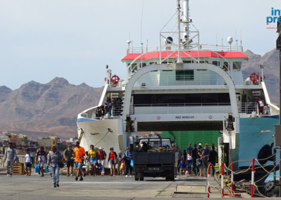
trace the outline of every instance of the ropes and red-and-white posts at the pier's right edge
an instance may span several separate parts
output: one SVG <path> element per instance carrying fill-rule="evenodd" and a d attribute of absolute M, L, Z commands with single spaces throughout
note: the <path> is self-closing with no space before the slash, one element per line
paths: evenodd
<path fill-rule="evenodd" d="M 261 165 L 260 164 L 260 161 L 262 160 L 268 160 L 269 158 L 275 156 L 277 153 L 281 153 L 281 150 L 277 151 L 276 153 L 272 154 L 271 156 L 267 157 L 267 158 L 263 158 L 263 159 L 252 159 L 252 160 L 239 160 L 239 161 L 232 161 L 231 164 L 227 167 L 226 165 L 224 165 L 224 163 L 222 162 L 222 166 L 221 166 L 221 178 L 219 177 L 213 177 L 214 180 L 217 182 L 217 185 L 211 185 L 210 184 L 210 178 L 211 178 L 211 175 L 210 175 L 210 168 L 213 166 L 211 163 L 209 163 L 208 165 L 208 176 L 207 176 L 207 197 L 210 197 L 210 193 L 211 191 L 212 192 L 217 192 L 219 191 L 221 193 L 221 196 L 224 197 L 224 195 L 229 195 L 229 196 L 232 196 L 232 197 L 235 197 L 235 196 L 239 196 L 240 194 L 237 194 L 235 192 L 235 190 L 233 189 L 233 186 L 234 186 L 234 181 L 233 181 L 233 175 L 234 174 L 240 174 L 240 173 L 245 173 L 249 170 L 252 170 L 252 181 L 251 181 L 251 192 L 239 185 L 235 185 L 236 188 L 238 188 L 239 190 L 241 191 L 245 191 L 247 192 L 248 194 L 251 195 L 251 197 L 253 196 L 260 196 L 260 197 L 267 197 L 265 195 L 263 195 L 262 193 L 260 193 L 259 189 L 258 189 L 258 186 L 256 185 L 257 182 L 259 182 L 260 180 L 264 179 L 266 176 L 268 175 L 272 175 L 274 177 L 278 177 L 278 178 L 281 178 L 280 176 L 277 176 L 277 175 L 274 175 L 274 174 L 271 174 L 271 172 L 277 167 L 279 166 L 279 162 L 281 161 L 281 159 L 279 160 L 276 160 L 276 161 L 272 161 L 272 162 L 269 162 L 268 164 L 266 165 Z M 234 171 L 233 170 L 233 164 L 236 163 L 236 162 L 245 162 L 245 161 L 252 161 L 251 164 L 249 165 L 249 167 L 247 169 L 243 169 L 243 170 L 236 170 Z M 254 162 L 257 162 L 258 163 L 258 167 L 254 167 Z M 269 166 L 269 165 L 272 165 L 273 163 L 275 162 L 275 166 L 269 171 L 267 170 L 265 167 L 266 166 Z M 231 169 L 230 169 L 230 166 L 231 166 Z M 214 166 L 213 166 L 214 167 Z M 252 168 L 252 169 L 251 169 Z M 262 168 L 266 174 L 256 180 L 256 181 L 253 181 L 253 178 L 254 178 L 254 170 L 255 169 L 259 169 L 259 168 Z M 226 176 L 224 176 L 224 170 L 226 170 Z M 279 169 L 281 170 L 281 169 Z M 231 172 L 231 173 L 229 173 Z M 280 179 L 279 179 L 280 180 Z M 226 183 L 231 183 L 231 184 L 226 184 Z M 226 186 L 226 187 L 225 187 Z M 260 186 L 267 186 L 267 185 L 259 185 Z M 254 189 L 255 188 L 255 189 Z M 228 193 L 224 193 L 224 189 L 226 189 L 228 191 Z M 257 191 L 258 193 L 254 193 L 255 191 Z"/>

